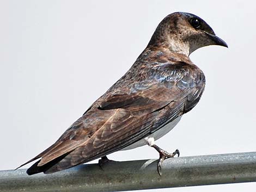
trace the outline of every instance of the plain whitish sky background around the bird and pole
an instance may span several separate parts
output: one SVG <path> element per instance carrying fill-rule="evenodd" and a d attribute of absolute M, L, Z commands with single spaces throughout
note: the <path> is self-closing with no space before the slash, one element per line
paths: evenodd
<path fill-rule="evenodd" d="M 0 170 L 54 143 L 117 81 L 166 15 L 202 17 L 229 48 L 191 54 L 206 76 L 198 105 L 157 144 L 181 156 L 255 150 L 253 1 L 0 1 Z M 113 160 L 158 158 L 148 146 Z M 28 168 L 27 165 L 25 168 Z M 147 191 L 255 191 L 256 183 Z"/>

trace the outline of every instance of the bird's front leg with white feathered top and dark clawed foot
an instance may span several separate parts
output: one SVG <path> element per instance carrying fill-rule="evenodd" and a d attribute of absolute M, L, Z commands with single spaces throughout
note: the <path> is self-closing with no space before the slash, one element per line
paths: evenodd
<path fill-rule="evenodd" d="M 155 139 L 154 138 L 145 138 L 145 140 L 147 141 L 147 143 L 150 147 L 154 147 L 155 150 L 159 152 L 160 157 L 159 157 L 159 160 L 158 160 L 158 163 L 157 163 L 157 172 L 159 173 L 160 176 L 162 176 L 161 165 L 163 163 L 163 160 L 174 157 L 176 154 L 178 154 L 178 157 L 179 157 L 180 156 L 180 151 L 176 150 L 173 153 L 168 153 L 167 151 L 162 150 L 162 148 L 160 148 L 159 146 L 155 145 Z"/>

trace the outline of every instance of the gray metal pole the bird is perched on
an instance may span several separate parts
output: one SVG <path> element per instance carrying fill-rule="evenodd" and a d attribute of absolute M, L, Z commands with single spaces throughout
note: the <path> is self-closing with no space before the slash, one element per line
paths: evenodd
<path fill-rule="evenodd" d="M 79 165 L 50 175 L 0 171 L 0 191 L 124 191 L 256 181 L 256 152 Z"/>

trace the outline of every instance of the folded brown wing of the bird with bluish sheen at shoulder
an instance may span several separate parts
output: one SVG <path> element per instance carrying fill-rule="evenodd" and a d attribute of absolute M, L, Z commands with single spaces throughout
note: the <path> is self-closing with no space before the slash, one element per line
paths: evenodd
<path fill-rule="evenodd" d="M 53 146 L 32 159 L 41 157 L 28 174 L 56 172 L 106 156 L 186 113 L 198 102 L 194 101 L 203 92 L 203 80 L 198 80 L 201 74 L 194 75 L 184 66 L 176 66 L 175 73 L 174 69 L 160 73 L 161 81 L 144 83 L 147 89 L 131 91 L 130 87 L 130 92 L 124 89 L 123 94 L 108 92 Z"/>

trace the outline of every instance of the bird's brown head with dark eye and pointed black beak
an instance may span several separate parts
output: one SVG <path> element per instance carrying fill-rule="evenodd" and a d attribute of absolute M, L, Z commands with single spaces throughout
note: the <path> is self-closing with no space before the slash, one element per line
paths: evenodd
<path fill-rule="evenodd" d="M 185 55 L 208 45 L 228 47 L 202 18 L 181 12 L 170 14 L 161 21 L 149 42 L 150 45 L 168 47 L 170 51 Z"/>

